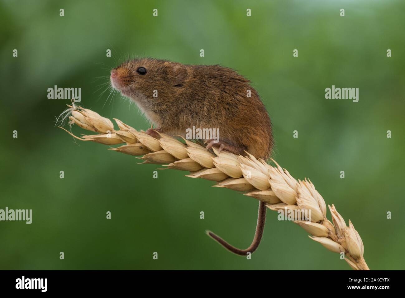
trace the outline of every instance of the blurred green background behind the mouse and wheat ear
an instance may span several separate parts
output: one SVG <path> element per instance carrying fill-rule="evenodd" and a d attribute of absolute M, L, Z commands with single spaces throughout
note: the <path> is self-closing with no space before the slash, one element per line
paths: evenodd
<path fill-rule="evenodd" d="M 134 104 L 98 90 L 109 69 L 141 55 L 251 79 L 273 122 L 273 157 L 352 220 L 371 269 L 404 269 L 405 2 L 325 2 L 1 1 L 0 208 L 32 209 L 33 222 L 0 222 L 0 268 L 350 269 L 271 210 L 252 259 L 232 255 L 205 229 L 247 247 L 256 199 L 186 172 L 153 179 L 158 166 L 55 127 L 70 102 L 47 99 L 57 85 L 81 87 L 83 106 L 102 116 L 148 128 Z M 358 87 L 359 102 L 325 99 L 332 85 Z"/>

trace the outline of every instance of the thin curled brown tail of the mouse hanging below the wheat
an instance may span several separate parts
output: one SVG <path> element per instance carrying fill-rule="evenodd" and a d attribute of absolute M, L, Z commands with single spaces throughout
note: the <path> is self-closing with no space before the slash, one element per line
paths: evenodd
<path fill-rule="evenodd" d="M 256 232 L 254 234 L 252 244 L 250 244 L 250 246 L 247 249 L 238 249 L 238 248 L 230 245 L 228 242 L 223 240 L 221 237 L 215 235 L 211 231 L 207 231 L 207 235 L 210 236 L 211 238 L 213 238 L 215 241 L 217 241 L 223 247 L 228 249 L 228 251 L 231 251 L 232 253 L 236 253 L 237 255 L 246 255 L 247 253 L 253 253 L 258 248 L 260 241 L 262 240 L 265 222 L 266 222 L 266 204 L 264 202 L 260 201 L 257 225 L 256 225 Z"/>

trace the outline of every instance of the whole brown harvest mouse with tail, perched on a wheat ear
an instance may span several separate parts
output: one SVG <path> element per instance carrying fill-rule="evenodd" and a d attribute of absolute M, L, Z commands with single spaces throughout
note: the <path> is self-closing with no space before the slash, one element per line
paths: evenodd
<path fill-rule="evenodd" d="M 242 155 L 247 151 L 264 160 L 271 154 L 273 137 L 266 108 L 249 80 L 232 69 L 139 58 L 112 69 L 110 79 L 115 89 L 135 101 L 156 131 L 185 135 L 193 126 L 218 128 L 219 141 L 205 140 L 207 149 L 215 146 Z M 147 133 L 156 134 L 152 129 Z M 246 255 L 257 249 L 265 219 L 266 206 L 260 201 L 256 233 L 247 249 L 208 234 L 229 251 Z"/>

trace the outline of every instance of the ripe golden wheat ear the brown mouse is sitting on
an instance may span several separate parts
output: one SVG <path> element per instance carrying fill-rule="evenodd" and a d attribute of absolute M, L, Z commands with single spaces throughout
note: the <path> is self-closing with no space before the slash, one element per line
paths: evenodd
<path fill-rule="evenodd" d="M 288 219 L 311 234 L 309 238 L 328 250 L 344 253 L 345 261 L 354 270 L 369 270 L 363 257 L 363 242 L 352 222 L 349 220 L 347 227 L 334 205 L 328 206 L 333 223 L 330 222 L 326 218 L 325 201 L 312 182 L 306 178 L 297 181 L 273 159 L 275 167 L 250 154 L 243 157 L 230 152 L 218 152 L 213 148 L 214 155 L 193 141 L 183 138 L 184 144 L 163 133 L 159 133 L 160 138 L 154 138 L 118 119 L 114 119 L 119 127 L 119 130 L 115 130 L 111 120 L 82 107 L 69 106 L 67 113 L 70 114 L 69 124 L 77 124 L 98 133 L 77 137 L 60 127 L 73 137 L 106 145 L 126 143 L 110 150 L 142 156 L 138 158 L 143 163 L 189 171 L 186 177 L 215 181 L 217 184 L 214 187 L 244 192 L 244 195 L 265 202 L 269 209 L 279 212 L 281 216 L 288 214 Z M 304 211 L 310 212 L 310 221 L 301 217 Z"/>

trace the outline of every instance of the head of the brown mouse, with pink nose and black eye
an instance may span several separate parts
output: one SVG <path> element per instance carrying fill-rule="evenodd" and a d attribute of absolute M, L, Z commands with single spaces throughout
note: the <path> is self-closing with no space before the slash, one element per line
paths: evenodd
<path fill-rule="evenodd" d="M 154 90 L 160 95 L 173 94 L 187 78 L 183 64 L 166 60 L 141 58 L 128 60 L 111 70 L 111 84 L 125 96 L 153 100 Z M 156 96 L 155 96 L 156 97 Z"/>

